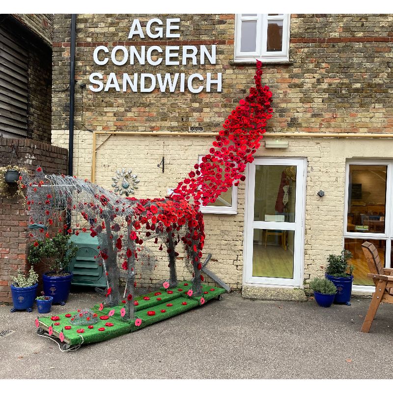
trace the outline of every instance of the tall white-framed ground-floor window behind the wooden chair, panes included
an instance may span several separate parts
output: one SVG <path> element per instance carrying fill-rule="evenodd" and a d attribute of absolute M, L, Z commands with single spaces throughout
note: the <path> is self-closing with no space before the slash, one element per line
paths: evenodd
<path fill-rule="evenodd" d="M 343 247 L 353 254 L 349 261 L 356 289 L 374 291 L 374 282 L 362 251 L 365 241 L 377 248 L 385 268 L 393 265 L 393 161 L 362 160 L 346 164 Z"/>

